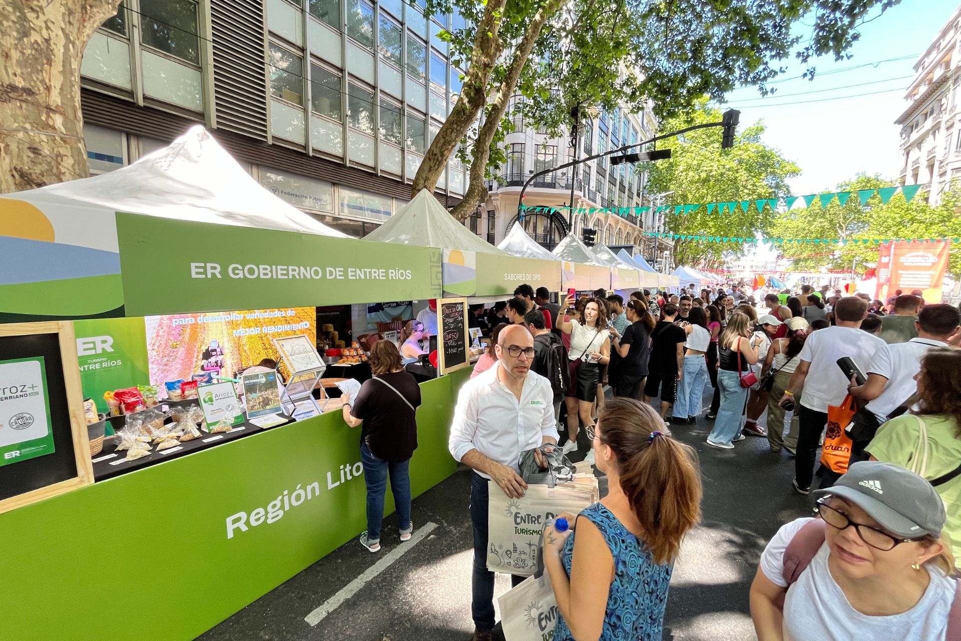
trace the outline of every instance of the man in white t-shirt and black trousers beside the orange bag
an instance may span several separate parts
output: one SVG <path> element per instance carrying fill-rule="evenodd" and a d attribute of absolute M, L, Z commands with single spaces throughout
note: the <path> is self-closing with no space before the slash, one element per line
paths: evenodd
<path fill-rule="evenodd" d="M 827 423 L 827 407 L 841 405 L 847 394 L 849 381 L 837 366 L 838 358 L 851 357 L 863 370 L 884 345 L 874 334 L 858 329 L 861 321 L 868 317 L 866 301 L 856 296 L 841 299 L 834 308 L 834 316 L 836 327 L 808 334 L 801 361 L 780 400 L 781 405 L 788 401 L 796 403 L 795 411 L 801 424 L 793 481 L 799 494 L 807 494 L 811 489 L 818 441 Z M 795 399 L 794 392 L 801 386 L 803 394 Z"/>

